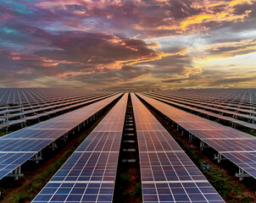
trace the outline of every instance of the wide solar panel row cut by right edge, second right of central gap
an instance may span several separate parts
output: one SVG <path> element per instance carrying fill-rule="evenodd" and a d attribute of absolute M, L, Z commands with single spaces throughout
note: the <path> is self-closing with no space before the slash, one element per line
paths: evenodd
<path fill-rule="evenodd" d="M 142 94 L 138 96 L 256 178 L 256 137 L 171 107 Z"/>

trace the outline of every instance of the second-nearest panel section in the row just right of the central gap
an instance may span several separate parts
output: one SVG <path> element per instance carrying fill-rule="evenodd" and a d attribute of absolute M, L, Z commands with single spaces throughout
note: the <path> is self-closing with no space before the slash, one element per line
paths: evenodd
<path fill-rule="evenodd" d="M 142 184 L 152 182 L 206 182 L 193 162 L 181 152 L 140 151 Z"/>

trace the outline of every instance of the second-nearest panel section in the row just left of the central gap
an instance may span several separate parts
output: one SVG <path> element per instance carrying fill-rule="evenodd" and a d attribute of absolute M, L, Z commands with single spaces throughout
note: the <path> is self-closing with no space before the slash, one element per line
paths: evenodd
<path fill-rule="evenodd" d="M 54 181 L 113 181 L 119 152 L 76 152 L 51 179 Z"/>

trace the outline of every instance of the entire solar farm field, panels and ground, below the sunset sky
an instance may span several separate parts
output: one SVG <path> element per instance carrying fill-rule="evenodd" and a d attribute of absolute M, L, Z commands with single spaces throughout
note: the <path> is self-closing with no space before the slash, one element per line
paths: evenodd
<path fill-rule="evenodd" d="M 255 202 L 256 91 L 0 89 L 0 202 Z"/>

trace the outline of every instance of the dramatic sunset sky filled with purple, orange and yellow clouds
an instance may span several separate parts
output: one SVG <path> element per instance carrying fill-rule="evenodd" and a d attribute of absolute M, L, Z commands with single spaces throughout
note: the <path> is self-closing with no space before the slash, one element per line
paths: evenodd
<path fill-rule="evenodd" d="M 256 87 L 256 0 L 0 0 L 0 87 Z"/>

